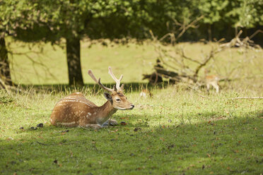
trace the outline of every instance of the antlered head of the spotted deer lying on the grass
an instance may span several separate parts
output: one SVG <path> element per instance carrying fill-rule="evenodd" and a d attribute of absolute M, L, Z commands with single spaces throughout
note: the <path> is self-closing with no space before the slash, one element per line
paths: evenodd
<path fill-rule="evenodd" d="M 104 90 L 111 92 L 111 94 L 108 92 L 104 92 L 103 95 L 107 100 L 110 101 L 113 108 L 119 110 L 133 109 L 134 105 L 131 104 L 131 102 L 129 102 L 127 100 L 127 97 L 125 97 L 125 95 L 123 94 L 124 84 L 122 84 L 121 87 L 119 87 L 120 81 L 122 80 L 123 76 L 120 76 L 120 78 L 117 79 L 112 73 L 112 68 L 110 66 L 109 74 L 116 82 L 116 86 L 113 85 L 112 89 L 105 87 L 102 83 L 100 83 L 100 78 L 97 80 L 97 78 L 95 78 L 95 76 L 93 75 L 93 72 L 91 70 L 88 70 L 88 75 L 90 75 L 90 77 L 95 81 L 95 83 L 98 83 L 98 85 L 100 85 L 100 87 L 102 87 Z"/>

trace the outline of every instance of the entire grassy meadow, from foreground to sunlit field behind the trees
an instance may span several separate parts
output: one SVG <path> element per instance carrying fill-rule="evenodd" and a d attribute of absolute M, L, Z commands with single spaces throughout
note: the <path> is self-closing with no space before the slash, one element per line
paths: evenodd
<path fill-rule="evenodd" d="M 0 91 L 0 174 L 262 174 L 262 51 L 228 49 L 208 65 L 224 77 L 235 69 L 221 92 L 191 90 L 183 84 L 151 86 L 141 80 L 157 57 L 151 43 L 103 47 L 81 44 L 86 86 L 69 88 L 65 51 L 61 47 L 21 42 L 14 54 L 12 78 L 23 87 L 8 95 Z M 182 43 L 189 56 L 209 44 Z M 31 48 L 31 50 L 29 49 Z M 32 53 L 32 50 L 34 53 Z M 98 131 L 51 126 L 54 104 L 81 91 L 102 105 L 106 100 L 86 71 L 92 69 L 108 87 L 107 74 L 124 75 L 125 95 L 135 105 L 112 116 L 119 123 Z M 49 73 L 48 73 L 49 71 Z M 37 86 L 33 86 L 33 85 Z M 59 85 L 58 85 L 59 84 Z M 148 87 L 153 97 L 140 97 Z M 43 123 L 44 127 L 37 127 Z M 23 128 L 22 128 L 23 127 Z M 31 128 L 31 127 L 34 127 Z M 35 129 L 37 128 L 37 129 Z"/>

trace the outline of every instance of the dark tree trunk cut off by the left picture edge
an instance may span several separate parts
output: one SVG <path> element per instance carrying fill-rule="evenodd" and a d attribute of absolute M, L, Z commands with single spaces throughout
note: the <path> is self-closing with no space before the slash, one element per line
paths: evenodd
<path fill-rule="evenodd" d="M 9 68 L 6 41 L 4 40 L 4 37 L 0 37 L 0 79 L 0 84 L 4 83 L 2 86 L 13 85 Z"/>

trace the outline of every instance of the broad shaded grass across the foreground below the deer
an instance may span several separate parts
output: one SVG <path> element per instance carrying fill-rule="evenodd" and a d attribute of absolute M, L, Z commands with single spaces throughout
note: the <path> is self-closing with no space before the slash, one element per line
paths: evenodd
<path fill-rule="evenodd" d="M 20 140 L 0 142 L 0 169 L 3 174 L 260 174 L 261 117 L 257 111 L 252 117 L 150 127 L 135 122 L 143 118 L 137 115 L 127 125 L 98 131 L 27 129 L 18 131 Z"/>

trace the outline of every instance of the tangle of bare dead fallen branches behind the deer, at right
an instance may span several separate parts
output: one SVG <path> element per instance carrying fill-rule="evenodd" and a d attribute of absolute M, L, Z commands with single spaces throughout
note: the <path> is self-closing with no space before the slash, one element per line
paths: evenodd
<path fill-rule="evenodd" d="M 177 20 L 175 20 L 174 23 L 175 25 L 180 26 L 179 32 L 184 32 L 186 29 L 193 27 L 195 23 L 197 23 L 197 21 L 201 18 L 202 17 L 197 18 L 197 20 L 192 21 L 192 23 L 187 26 L 185 23 L 178 23 Z M 255 35 L 257 35 L 259 32 L 262 32 L 262 30 L 257 30 L 257 32 L 255 32 L 253 35 L 250 37 L 245 37 L 245 39 L 240 39 L 240 35 L 242 34 L 242 30 L 240 30 L 233 40 L 230 40 L 230 42 L 222 44 L 221 42 L 225 40 L 222 38 L 216 42 L 216 45 L 211 46 L 210 52 L 207 54 L 202 53 L 202 59 L 196 59 L 192 56 L 187 56 L 185 50 L 182 47 L 179 49 L 175 48 L 174 51 L 173 49 L 170 49 L 170 47 L 165 47 L 165 44 L 162 43 L 162 41 L 167 37 L 170 37 L 170 40 L 172 40 L 172 37 L 175 37 L 176 32 L 168 33 L 159 40 L 158 37 L 153 35 L 151 30 L 149 32 L 153 39 L 153 47 L 158 54 L 158 59 L 156 60 L 156 65 L 153 66 L 154 72 L 151 74 L 144 74 L 143 80 L 148 79 L 149 83 L 153 85 L 163 82 L 163 78 L 166 78 L 171 84 L 187 83 L 189 87 L 204 87 L 206 84 L 204 80 L 201 80 L 204 78 L 200 78 L 199 76 L 200 71 L 209 64 L 209 61 L 211 62 L 212 60 L 216 59 L 219 53 L 225 51 L 226 49 L 230 49 L 231 47 L 244 47 L 245 49 L 261 48 L 257 47 L 257 44 L 254 44 L 250 38 L 255 37 Z M 175 39 L 177 40 L 178 37 L 180 37 L 180 34 L 177 35 Z M 252 59 L 254 59 L 254 57 L 252 57 Z M 190 63 L 190 61 L 192 63 Z M 194 66 L 192 66 L 192 64 L 194 64 Z M 228 75 L 225 76 L 225 78 L 220 78 L 219 81 L 230 82 L 233 80 L 243 79 L 243 77 L 230 78 L 230 76 L 235 73 L 236 70 L 240 69 L 242 65 L 243 64 L 240 64 L 240 66 L 235 66 L 232 68 L 232 70 L 228 71 Z"/>

